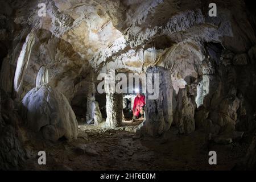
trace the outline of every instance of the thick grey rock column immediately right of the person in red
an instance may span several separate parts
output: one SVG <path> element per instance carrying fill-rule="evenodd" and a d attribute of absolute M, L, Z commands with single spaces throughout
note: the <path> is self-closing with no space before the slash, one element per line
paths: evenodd
<path fill-rule="evenodd" d="M 171 73 L 167 69 L 150 67 L 147 69 L 147 77 L 149 74 L 158 74 L 158 76 L 154 77 L 154 81 L 147 80 L 147 88 L 151 81 L 152 85 L 155 83 L 159 83 L 159 85 L 155 84 L 154 93 L 149 93 L 147 90 L 144 132 L 148 135 L 156 136 L 163 134 L 171 127 L 174 89 L 171 82 Z M 150 99 L 152 94 L 156 94 L 158 97 Z"/>

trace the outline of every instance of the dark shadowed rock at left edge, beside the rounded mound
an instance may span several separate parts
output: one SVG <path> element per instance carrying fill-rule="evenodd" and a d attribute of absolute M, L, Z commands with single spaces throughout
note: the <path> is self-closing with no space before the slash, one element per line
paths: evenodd
<path fill-rule="evenodd" d="M 6 98 L 2 101 L 0 96 L 0 101 L 0 169 L 22 169 L 25 151 L 20 139 L 18 114 L 14 111 L 13 100 Z"/>

